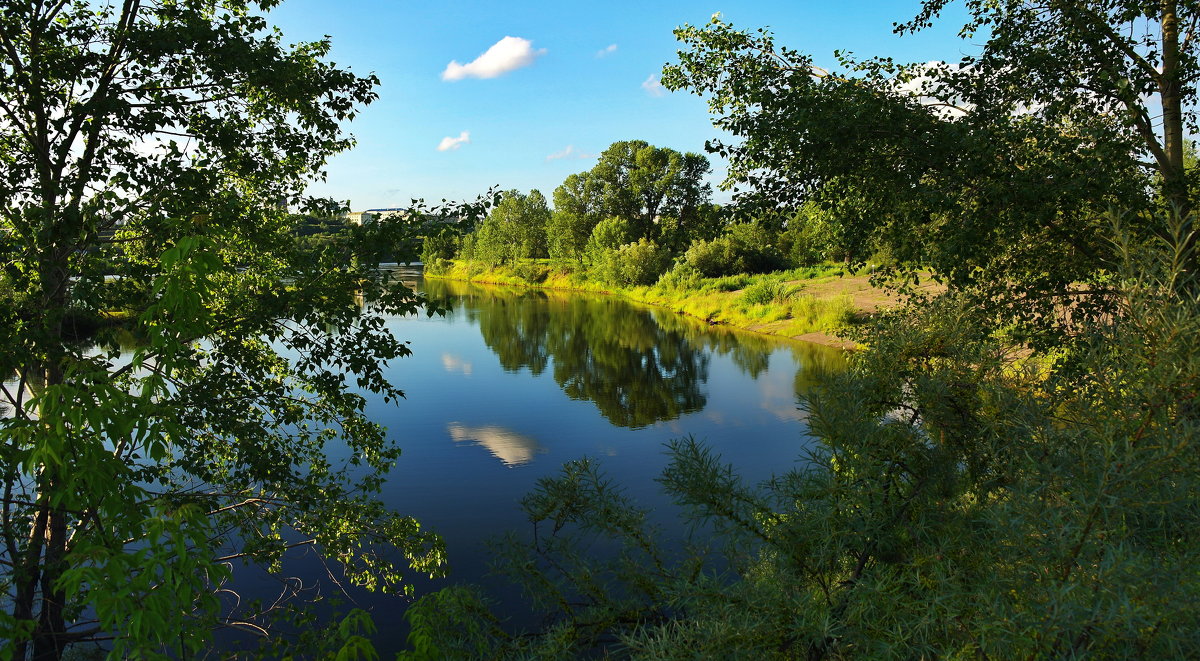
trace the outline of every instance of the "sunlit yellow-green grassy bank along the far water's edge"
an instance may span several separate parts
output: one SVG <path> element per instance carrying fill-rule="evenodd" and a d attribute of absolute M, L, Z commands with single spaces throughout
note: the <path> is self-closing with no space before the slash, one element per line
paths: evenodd
<path fill-rule="evenodd" d="M 846 330 L 902 302 L 895 294 L 872 287 L 868 274 L 835 265 L 719 278 L 668 275 L 649 287 L 607 286 L 536 260 L 492 269 L 451 262 L 427 271 L 426 277 L 610 294 L 714 325 L 842 349 L 854 347 L 846 339 Z"/>

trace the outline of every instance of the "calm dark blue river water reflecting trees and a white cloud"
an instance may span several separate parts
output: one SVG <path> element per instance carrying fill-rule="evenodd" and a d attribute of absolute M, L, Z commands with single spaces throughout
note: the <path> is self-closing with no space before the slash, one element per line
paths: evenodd
<path fill-rule="evenodd" d="M 448 581 L 482 583 L 510 606 L 515 595 L 486 576 L 485 541 L 529 529 L 517 503 L 539 477 L 570 459 L 600 458 L 670 525 L 673 507 L 654 482 L 665 441 L 703 439 L 752 481 L 784 471 L 809 443 L 798 395 L 818 368 L 842 361 L 824 347 L 611 298 L 419 278 L 416 286 L 451 312 L 389 323 L 413 355 L 390 366 L 407 398 L 368 409 L 403 449 L 383 497 L 445 537 Z M 286 569 L 324 576 L 311 559 Z M 403 645 L 407 602 L 354 597 L 373 611 L 379 651 L 390 656 Z"/>

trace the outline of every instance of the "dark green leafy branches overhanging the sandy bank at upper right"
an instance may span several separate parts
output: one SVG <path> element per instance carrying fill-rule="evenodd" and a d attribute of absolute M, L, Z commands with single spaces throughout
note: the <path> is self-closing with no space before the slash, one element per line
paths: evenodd
<path fill-rule="evenodd" d="M 943 4 L 925 2 L 900 30 L 929 24 Z M 835 54 L 845 72 L 836 73 L 778 47 L 766 30 L 739 31 L 714 17 L 677 30 L 685 49 L 662 80 L 706 96 L 715 124 L 734 136 L 710 146 L 730 158 L 727 184 L 742 188 L 745 214 L 811 200 L 834 214 L 853 262 L 887 246 L 908 268 L 931 266 L 964 290 L 990 286 L 979 289 L 980 305 L 1007 305 L 1007 314 L 1036 324 L 1055 296 L 1111 259 L 1104 212 L 1150 204 L 1154 168 L 1142 155 L 1165 148 L 1141 130 L 1154 112 L 1140 95 L 1176 90 L 1190 103 L 1195 42 L 1151 83 L 1142 55 L 1159 50 L 1141 26 L 1168 29 L 1157 14 L 1146 20 L 1144 11 L 1158 5 L 967 5 L 965 34 L 978 30 L 986 42 L 958 64 Z M 1180 8 L 1178 18 L 1194 11 Z M 1176 37 L 1164 32 L 1163 43 Z M 1172 121 L 1164 116 L 1168 136 Z M 1157 172 L 1171 168 L 1158 162 Z M 1007 289 L 1013 282 L 1045 295 L 1016 294 Z"/>

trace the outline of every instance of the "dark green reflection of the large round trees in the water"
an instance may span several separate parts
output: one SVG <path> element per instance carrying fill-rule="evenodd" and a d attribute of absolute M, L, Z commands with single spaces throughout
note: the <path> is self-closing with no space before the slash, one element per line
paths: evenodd
<path fill-rule="evenodd" d="M 452 299 L 456 310 L 478 323 L 506 371 L 538 375 L 550 369 L 563 392 L 594 403 L 613 425 L 640 428 L 704 408 L 707 354 L 648 310 L 612 299 L 504 288 L 488 289 L 485 300 L 470 286 L 446 281 L 427 281 L 425 290 Z"/>

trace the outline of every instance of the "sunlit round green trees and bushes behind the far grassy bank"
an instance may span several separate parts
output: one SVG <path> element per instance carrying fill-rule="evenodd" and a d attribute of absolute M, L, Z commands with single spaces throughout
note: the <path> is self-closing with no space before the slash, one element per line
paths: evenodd
<path fill-rule="evenodd" d="M 445 224 L 426 236 L 427 272 L 448 260 L 481 271 L 548 259 L 554 268 L 613 286 L 654 284 L 672 277 L 764 274 L 850 258 L 833 216 L 814 205 L 745 217 L 712 202 L 710 170 L 700 154 L 680 154 L 644 140 L 613 143 L 588 172 L 554 190 L 553 208 L 540 191 L 508 191 L 478 226 Z"/>

